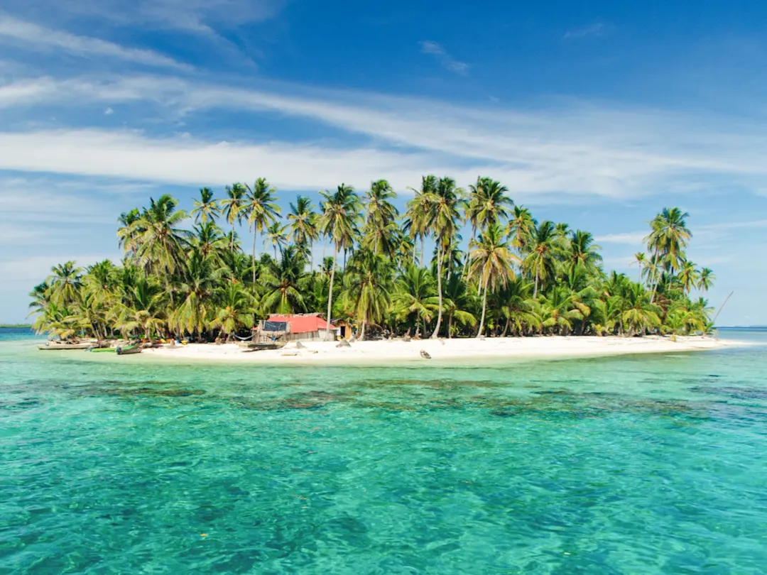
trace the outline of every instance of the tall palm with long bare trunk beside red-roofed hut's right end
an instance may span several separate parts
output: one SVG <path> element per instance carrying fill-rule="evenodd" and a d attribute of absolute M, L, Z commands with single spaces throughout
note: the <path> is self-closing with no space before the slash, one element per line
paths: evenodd
<path fill-rule="evenodd" d="M 327 338 L 331 339 L 331 311 L 333 309 L 333 282 L 335 280 L 336 258 L 338 250 L 351 248 L 354 238 L 357 237 L 357 222 L 360 219 L 359 196 L 354 188 L 341 184 L 335 192 L 325 190 L 320 192 L 324 198 L 322 202 L 322 216 L 320 227 L 322 233 L 331 238 L 333 242 L 333 268 L 331 269 L 331 284 L 328 291 L 328 332 Z"/>

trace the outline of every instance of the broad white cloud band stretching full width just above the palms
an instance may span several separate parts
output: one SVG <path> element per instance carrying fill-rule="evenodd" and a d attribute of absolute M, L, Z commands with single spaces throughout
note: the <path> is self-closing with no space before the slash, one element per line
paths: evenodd
<path fill-rule="evenodd" d="M 142 106 L 143 120 L 153 118 L 156 123 L 172 120 L 173 130 L 185 115 L 217 108 L 252 114 L 242 116 L 249 121 L 257 121 L 264 113 L 274 120 L 275 112 L 279 114 L 277 118 L 311 120 L 345 133 L 367 136 L 368 140 L 360 145 L 357 138 L 354 145 L 344 146 L 340 142 L 331 145 L 279 142 L 265 135 L 260 142 L 227 145 L 235 150 L 257 149 L 259 153 L 272 150 L 278 154 L 298 153 L 310 157 L 323 156 L 317 151 L 323 148 L 328 149 L 329 156 L 334 156 L 334 146 L 347 156 L 356 150 L 369 160 L 364 164 L 370 166 L 370 173 L 362 177 L 363 180 L 383 173 L 384 165 L 392 166 L 393 171 L 402 176 L 410 173 L 410 169 L 422 173 L 448 169 L 456 177 L 466 172 L 469 179 L 473 179 L 480 173 L 477 170 L 482 170 L 481 173 L 504 179 L 515 199 L 525 201 L 533 196 L 538 198 L 542 193 L 556 193 L 559 198 L 563 194 L 626 198 L 655 194 L 658 189 L 689 194 L 703 188 L 714 189 L 716 178 L 722 186 L 737 183 L 748 189 L 762 186 L 767 177 L 767 166 L 759 153 L 767 149 L 767 126 L 710 115 L 697 117 L 663 110 L 611 108 L 607 104 L 592 107 L 572 101 L 555 110 L 486 109 L 352 91 L 308 90 L 286 84 L 272 85 L 268 90 L 238 87 L 233 82 L 221 87 L 170 76 L 90 77 L 67 81 L 40 78 L 0 87 L 0 107 L 38 103 L 114 107 L 121 102 L 134 104 L 133 109 Z M 71 134 L 78 130 L 66 131 Z M 61 139 L 61 132 L 52 133 L 51 137 Z M 100 137 L 104 137 L 104 133 Z M 115 134 L 116 139 L 105 145 L 112 146 L 123 141 L 123 137 L 124 134 Z M 275 137 L 285 136 L 277 131 Z M 34 171 L 38 166 L 43 171 L 61 169 L 73 173 L 75 166 L 81 165 L 64 163 L 58 167 L 44 154 L 35 153 L 28 145 L 32 140 L 26 138 L 21 133 L 2 136 L 8 146 L 16 143 L 22 146 L 15 150 L 9 148 L 13 153 L 0 159 L 6 167 Z M 41 139 L 42 135 L 31 134 L 29 138 Z M 215 140 L 195 142 L 201 149 L 216 145 Z M 27 151 L 27 158 L 21 158 L 21 149 Z M 385 161 L 380 169 L 374 167 L 378 159 Z M 333 157 L 329 162 L 328 166 L 338 170 L 337 177 L 345 179 L 343 173 L 348 166 L 339 166 Z M 90 166 L 78 168 L 86 170 L 81 173 L 110 173 L 99 171 L 106 168 L 97 163 L 83 163 Z M 173 165 L 171 162 L 167 166 L 166 177 L 160 177 L 162 166 L 141 177 L 176 181 Z M 278 162 L 273 166 L 276 171 L 284 165 Z M 318 179 L 314 184 L 308 176 L 301 176 L 297 183 L 301 188 L 316 187 L 319 182 L 325 185 L 333 172 L 326 168 L 318 166 Z M 288 176 L 291 168 L 285 167 L 285 170 L 286 174 L 279 177 L 285 181 L 297 180 Z M 362 176 L 360 171 L 355 169 Z M 471 172 L 475 172 L 473 176 Z M 209 178 L 202 180 L 210 181 Z"/>

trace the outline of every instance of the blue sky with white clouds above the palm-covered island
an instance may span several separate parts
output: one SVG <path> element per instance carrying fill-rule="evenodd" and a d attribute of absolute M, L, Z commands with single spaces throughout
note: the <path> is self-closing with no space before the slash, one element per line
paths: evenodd
<path fill-rule="evenodd" d="M 767 324 L 767 5 L 0 0 L 0 321 L 116 218 L 264 176 L 282 202 L 492 176 L 630 266 L 690 212 L 720 324 Z M 249 244 L 247 232 L 243 232 Z"/>

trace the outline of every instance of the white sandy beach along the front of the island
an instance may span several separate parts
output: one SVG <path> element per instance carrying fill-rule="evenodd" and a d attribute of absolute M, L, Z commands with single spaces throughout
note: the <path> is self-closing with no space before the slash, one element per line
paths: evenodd
<path fill-rule="evenodd" d="M 234 343 L 214 345 L 192 343 L 174 349 L 144 350 L 139 357 L 162 360 L 213 360 L 225 362 L 291 364 L 400 363 L 427 362 L 420 357 L 425 350 L 435 363 L 481 359 L 558 359 L 573 357 L 599 357 L 634 353 L 679 353 L 716 350 L 744 345 L 732 340 L 711 337 L 499 337 L 486 340 L 420 340 L 405 342 L 364 341 L 351 347 L 336 347 L 335 342 L 307 341 L 306 349 L 298 349 L 295 342 L 281 350 L 244 353 Z"/>

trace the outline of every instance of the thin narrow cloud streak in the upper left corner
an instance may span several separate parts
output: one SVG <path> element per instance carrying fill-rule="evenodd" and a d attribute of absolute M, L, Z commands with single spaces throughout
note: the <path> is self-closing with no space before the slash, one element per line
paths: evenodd
<path fill-rule="evenodd" d="M 37 24 L 0 14 L 0 42 L 15 44 L 29 51 L 61 50 L 68 54 L 92 58 L 117 58 L 154 67 L 173 67 L 191 70 L 183 64 L 156 51 L 126 48 L 109 41 L 79 36 L 67 31 L 51 30 Z"/>

